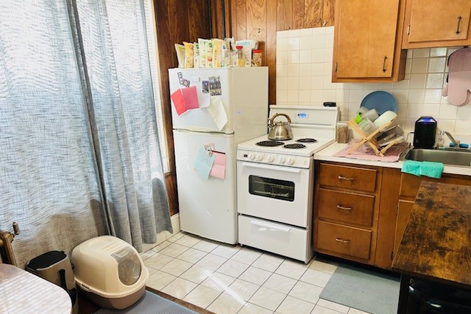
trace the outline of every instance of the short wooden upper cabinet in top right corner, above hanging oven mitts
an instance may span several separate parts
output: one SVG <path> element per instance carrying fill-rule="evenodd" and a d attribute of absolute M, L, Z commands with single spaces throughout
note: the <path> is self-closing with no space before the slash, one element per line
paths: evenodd
<path fill-rule="evenodd" d="M 471 44 L 470 0 L 407 0 L 402 49 Z"/>

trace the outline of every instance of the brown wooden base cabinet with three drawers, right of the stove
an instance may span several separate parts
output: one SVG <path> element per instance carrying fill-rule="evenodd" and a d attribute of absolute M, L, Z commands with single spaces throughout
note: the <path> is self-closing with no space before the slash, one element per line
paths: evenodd
<path fill-rule="evenodd" d="M 375 264 L 382 168 L 316 162 L 316 251 Z"/>

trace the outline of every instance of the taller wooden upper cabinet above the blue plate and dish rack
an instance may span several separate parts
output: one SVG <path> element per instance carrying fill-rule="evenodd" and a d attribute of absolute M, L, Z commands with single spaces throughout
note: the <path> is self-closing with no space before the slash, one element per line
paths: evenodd
<path fill-rule="evenodd" d="M 333 82 L 400 81 L 403 0 L 337 0 Z"/>

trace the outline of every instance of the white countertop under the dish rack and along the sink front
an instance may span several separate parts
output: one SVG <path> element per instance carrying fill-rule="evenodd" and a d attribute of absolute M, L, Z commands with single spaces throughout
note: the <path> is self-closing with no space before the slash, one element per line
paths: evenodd
<path fill-rule="evenodd" d="M 345 158 L 345 157 L 335 157 L 333 156 L 338 151 L 342 150 L 347 144 L 332 143 L 326 148 L 317 153 L 314 153 L 314 160 L 316 161 L 335 161 L 337 163 L 350 163 L 353 165 L 363 165 L 363 166 L 378 166 L 378 167 L 387 167 L 387 168 L 402 168 L 402 163 L 404 162 L 404 155 L 394 163 L 386 163 L 383 161 L 366 161 L 361 159 L 354 158 Z M 471 167 L 458 167 L 458 166 L 445 166 L 443 168 L 443 173 L 452 173 L 460 174 L 465 176 L 471 176 Z"/>

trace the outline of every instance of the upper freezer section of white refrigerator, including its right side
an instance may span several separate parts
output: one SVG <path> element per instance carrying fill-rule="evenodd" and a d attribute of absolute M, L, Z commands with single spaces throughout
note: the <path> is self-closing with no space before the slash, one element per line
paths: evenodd
<path fill-rule="evenodd" d="M 196 86 L 200 98 L 208 100 L 212 86 L 203 84 L 216 77 L 221 83 L 221 98 L 228 122 L 221 130 L 213 121 L 208 108 L 190 109 L 178 116 L 172 103 L 172 123 L 174 129 L 190 131 L 236 133 L 236 144 L 267 133 L 268 114 L 268 68 L 230 68 L 230 69 L 169 69 L 170 93 L 181 85 L 181 78 Z M 203 85 L 209 93 L 203 93 Z"/>

